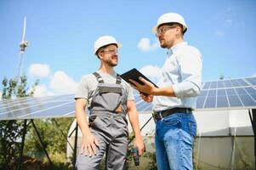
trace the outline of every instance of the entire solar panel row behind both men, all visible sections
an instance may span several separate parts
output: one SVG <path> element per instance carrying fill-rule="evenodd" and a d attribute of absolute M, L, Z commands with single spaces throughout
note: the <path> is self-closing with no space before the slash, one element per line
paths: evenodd
<path fill-rule="evenodd" d="M 152 111 L 134 91 L 139 112 Z M 0 100 L 0 120 L 74 116 L 74 95 Z M 205 82 L 197 98 L 196 110 L 256 108 L 256 77 Z M 88 111 L 87 111 L 88 112 Z"/>

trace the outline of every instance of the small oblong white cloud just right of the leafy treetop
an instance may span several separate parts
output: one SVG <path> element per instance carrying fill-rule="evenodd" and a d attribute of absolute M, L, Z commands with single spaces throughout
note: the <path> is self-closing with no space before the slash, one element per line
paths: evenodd
<path fill-rule="evenodd" d="M 28 69 L 31 77 L 48 77 L 50 73 L 49 65 L 32 64 Z"/>

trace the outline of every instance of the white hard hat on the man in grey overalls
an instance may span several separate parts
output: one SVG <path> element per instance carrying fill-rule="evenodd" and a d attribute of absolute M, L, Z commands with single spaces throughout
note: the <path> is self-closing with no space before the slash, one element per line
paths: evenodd
<path fill-rule="evenodd" d="M 104 47 L 105 45 L 109 44 L 117 44 L 117 48 L 122 48 L 122 43 L 118 43 L 117 40 L 114 37 L 111 36 L 102 36 L 99 37 L 95 42 L 94 42 L 94 54 L 98 51 L 99 48 Z"/>

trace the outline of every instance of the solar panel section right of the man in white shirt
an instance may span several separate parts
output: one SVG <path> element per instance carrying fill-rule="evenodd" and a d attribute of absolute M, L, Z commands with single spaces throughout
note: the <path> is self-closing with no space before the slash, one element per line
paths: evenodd
<path fill-rule="evenodd" d="M 256 77 L 205 82 L 196 109 L 255 108 Z"/>

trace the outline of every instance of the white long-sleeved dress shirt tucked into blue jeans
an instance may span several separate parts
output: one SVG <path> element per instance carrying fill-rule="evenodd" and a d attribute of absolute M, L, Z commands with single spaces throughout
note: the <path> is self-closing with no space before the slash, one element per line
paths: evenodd
<path fill-rule="evenodd" d="M 202 84 L 202 54 L 187 42 L 179 42 L 168 50 L 168 58 L 157 82 L 159 88 L 172 87 L 176 97 L 154 96 L 153 111 L 174 107 L 196 108 L 196 96 Z"/>

